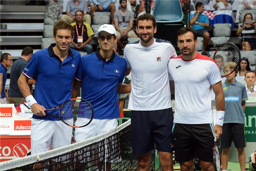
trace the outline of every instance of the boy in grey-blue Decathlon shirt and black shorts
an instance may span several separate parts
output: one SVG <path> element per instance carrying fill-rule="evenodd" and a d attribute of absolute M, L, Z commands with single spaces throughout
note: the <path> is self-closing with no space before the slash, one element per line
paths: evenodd
<path fill-rule="evenodd" d="M 224 72 L 232 70 L 236 67 L 235 62 L 228 62 L 224 65 Z M 245 152 L 246 147 L 244 135 L 244 110 L 245 101 L 248 100 L 246 87 L 244 84 L 235 80 L 238 68 L 226 77 L 226 81 L 222 84 L 225 95 L 225 116 L 222 126 L 221 135 L 221 159 L 223 171 L 227 170 L 229 149 L 232 139 L 238 152 L 238 159 L 241 171 L 245 171 Z"/>

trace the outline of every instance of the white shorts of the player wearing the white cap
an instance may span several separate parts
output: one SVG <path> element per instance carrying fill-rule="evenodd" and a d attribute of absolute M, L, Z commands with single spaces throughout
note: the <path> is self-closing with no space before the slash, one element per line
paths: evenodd
<path fill-rule="evenodd" d="M 85 139 L 108 132 L 109 130 L 116 128 L 117 125 L 117 118 L 92 119 L 92 122 L 89 125 L 82 128 L 76 128 L 74 138 L 76 142 L 83 141 Z"/>

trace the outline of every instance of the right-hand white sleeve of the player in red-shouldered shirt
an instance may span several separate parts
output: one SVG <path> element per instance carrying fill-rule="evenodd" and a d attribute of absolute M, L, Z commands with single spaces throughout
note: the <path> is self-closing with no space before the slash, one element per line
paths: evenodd
<path fill-rule="evenodd" d="M 217 64 L 211 61 L 211 65 L 208 71 L 208 79 L 211 85 L 216 84 L 217 82 L 221 81 L 220 70 Z"/>

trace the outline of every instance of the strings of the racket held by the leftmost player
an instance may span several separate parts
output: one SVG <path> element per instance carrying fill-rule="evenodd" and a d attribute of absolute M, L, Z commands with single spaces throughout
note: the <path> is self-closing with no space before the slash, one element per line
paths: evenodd
<path fill-rule="evenodd" d="M 60 107 L 60 118 L 68 125 L 87 125 L 92 118 L 92 107 L 83 99 L 72 99 Z"/>

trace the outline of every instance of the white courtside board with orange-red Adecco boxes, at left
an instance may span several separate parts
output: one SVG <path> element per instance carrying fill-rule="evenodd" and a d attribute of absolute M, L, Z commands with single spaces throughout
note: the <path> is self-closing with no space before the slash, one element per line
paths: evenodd
<path fill-rule="evenodd" d="M 19 115 L 14 104 L 0 105 L 0 135 L 30 135 L 30 133 L 31 119 Z"/>

